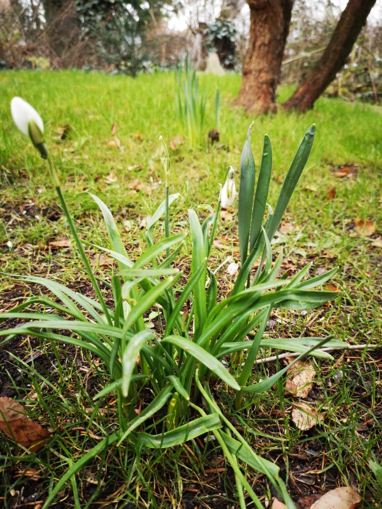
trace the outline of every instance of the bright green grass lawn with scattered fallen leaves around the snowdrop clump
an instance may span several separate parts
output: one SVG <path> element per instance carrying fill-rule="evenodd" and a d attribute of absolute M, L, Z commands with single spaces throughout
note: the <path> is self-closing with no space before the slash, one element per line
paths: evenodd
<path fill-rule="evenodd" d="M 313 262 L 312 274 L 338 265 L 332 284 L 339 288 L 340 297 L 307 314 L 275 313 L 268 333 L 272 337 L 334 334 L 352 345 L 382 345 L 381 111 L 370 105 L 321 98 L 305 115 L 280 112 L 251 119 L 232 106 L 240 76 L 202 75 L 199 79 L 207 94 L 206 133 L 215 127 L 214 95 L 219 87 L 220 142 L 192 151 L 175 115 L 171 73 L 135 79 L 79 71 L 1 73 L 2 271 L 50 275 L 73 288 L 87 289 L 76 254 L 54 244 L 70 235 L 44 161 L 12 123 L 9 104 L 13 96 L 29 101 L 44 119 L 47 144 L 81 236 L 107 245 L 98 209 L 90 199 L 76 196 L 90 190 L 111 208 L 132 259 L 138 258 L 143 246 L 142 221 L 164 197 L 157 150 L 160 134 L 170 146 L 170 192 L 180 192 L 183 197 L 170 210 L 171 229 L 177 231 L 187 224 L 187 208 L 215 205 L 218 184 L 224 183 L 230 165 L 237 170 L 238 187 L 240 153 L 252 120 L 257 165 L 265 133 L 272 142 L 272 206 L 301 138 L 316 123 L 311 156 L 274 247 L 277 253 L 283 246 L 283 268 L 292 274 L 308 261 Z M 281 87 L 280 100 L 289 93 Z M 336 176 L 341 166 L 352 168 L 348 176 Z M 371 235 L 354 228 L 354 220 L 359 219 L 373 224 L 374 232 L 368 232 Z M 222 217 L 212 252 L 214 268 L 237 257 L 234 221 L 234 210 Z M 183 260 L 187 256 L 183 253 Z M 99 276 L 111 271 L 97 257 L 92 263 Z M 225 268 L 223 264 L 217 271 L 222 292 L 231 285 Z M 8 276 L 0 280 L 0 289 L 0 310 L 35 291 L 15 284 Z M 20 451 L 8 439 L 4 449 L 0 446 L 0 484 L 4 485 L 0 500 L 5 497 L 6 507 L 13 507 L 11 490 L 22 487 L 26 499 L 37 496 L 28 501 L 44 500 L 62 472 L 97 442 L 97 436 L 102 436 L 115 417 L 112 406 L 89 410 L 94 380 L 101 370 L 94 358 L 73 352 L 69 346 L 58 350 L 53 343 L 16 343 L 9 348 L 11 354 L 2 352 L 0 357 L 4 383 L 0 395 L 26 400 L 29 415 L 41 417 L 54 433 L 49 450 L 39 455 L 17 455 Z M 34 360 L 31 354 L 36 352 Z M 325 419 L 309 432 L 293 427 L 292 400 L 282 397 L 283 385 L 279 383 L 263 398 L 249 400 L 243 412 L 235 413 L 229 392 L 221 394 L 221 404 L 243 435 L 249 440 L 255 437 L 258 450 L 282 467 L 294 498 L 354 484 L 365 499 L 364 506 L 371 509 L 381 498 L 368 466 L 369 460 L 382 460 L 380 357 L 380 350 L 379 354 L 352 350 L 337 353 L 332 363 L 314 361 L 317 377 L 312 398 Z M 59 369 L 58 380 L 52 379 L 53 365 Z M 15 378 L 16 367 L 21 374 Z M 274 368 L 274 364 L 259 365 L 256 374 L 261 377 Z M 154 457 L 141 450 L 133 458 L 123 450 L 105 451 L 73 479 L 56 507 L 102 506 L 97 501 L 121 508 L 235 506 L 234 478 L 222 458 L 217 447 L 203 448 L 197 442 Z M 250 477 L 263 497 L 271 496 L 265 481 L 251 472 Z"/>

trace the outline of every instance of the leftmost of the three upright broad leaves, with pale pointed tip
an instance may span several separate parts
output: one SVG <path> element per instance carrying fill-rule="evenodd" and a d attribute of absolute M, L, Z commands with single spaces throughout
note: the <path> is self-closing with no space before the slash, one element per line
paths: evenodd
<path fill-rule="evenodd" d="M 255 191 L 255 161 L 251 150 L 251 129 L 248 128 L 247 139 L 240 158 L 240 187 L 238 205 L 238 228 L 241 265 L 245 262 L 250 239 L 253 195 Z"/>

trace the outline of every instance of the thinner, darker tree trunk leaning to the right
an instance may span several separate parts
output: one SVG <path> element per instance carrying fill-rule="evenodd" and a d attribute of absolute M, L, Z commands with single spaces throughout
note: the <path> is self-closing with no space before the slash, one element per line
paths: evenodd
<path fill-rule="evenodd" d="M 306 111 L 344 66 L 366 18 L 376 0 L 349 0 L 320 60 L 293 96 L 284 102 L 286 110 Z"/>

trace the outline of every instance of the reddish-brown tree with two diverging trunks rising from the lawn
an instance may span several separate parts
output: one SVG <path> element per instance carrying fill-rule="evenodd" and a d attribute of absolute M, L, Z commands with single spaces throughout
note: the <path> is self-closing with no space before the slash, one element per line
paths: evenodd
<path fill-rule="evenodd" d="M 376 0 L 349 0 L 321 59 L 285 109 L 313 106 L 336 76 L 356 41 Z M 247 0 L 251 12 L 250 43 L 243 64 L 237 103 L 252 113 L 275 111 L 276 86 L 289 33 L 293 0 Z"/>

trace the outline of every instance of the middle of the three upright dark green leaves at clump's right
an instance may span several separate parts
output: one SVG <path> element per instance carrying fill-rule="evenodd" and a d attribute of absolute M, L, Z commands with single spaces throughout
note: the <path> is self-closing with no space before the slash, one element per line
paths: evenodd
<path fill-rule="evenodd" d="M 261 226 L 263 223 L 266 201 L 268 197 L 271 173 L 272 173 L 272 146 L 270 144 L 269 136 L 265 134 L 263 156 L 261 159 L 259 178 L 256 186 L 255 203 L 253 206 L 252 213 L 250 251 L 255 245 L 255 242 L 261 232 Z"/>

